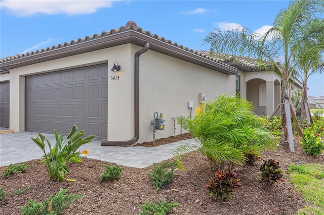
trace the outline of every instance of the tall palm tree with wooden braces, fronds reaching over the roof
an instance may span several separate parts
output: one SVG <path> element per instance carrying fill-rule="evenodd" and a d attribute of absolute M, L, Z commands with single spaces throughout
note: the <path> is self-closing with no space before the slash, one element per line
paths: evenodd
<path fill-rule="evenodd" d="M 288 9 L 282 9 L 273 22 L 273 26 L 260 38 L 248 28 L 242 30 L 216 30 L 204 40 L 210 44 L 218 57 L 231 57 L 235 63 L 240 57 L 255 58 L 261 69 L 277 69 L 281 75 L 281 124 L 284 133 L 282 140 L 287 142 L 285 99 L 288 99 L 288 81 L 293 74 L 294 47 L 310 38 L 307 24 L 324 11 L 323 0 L 297 0 L 290 2 Z M 283 59 L 281 64 L 276 62 Z"/>

